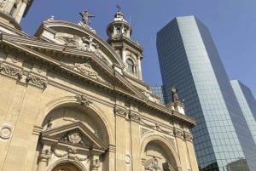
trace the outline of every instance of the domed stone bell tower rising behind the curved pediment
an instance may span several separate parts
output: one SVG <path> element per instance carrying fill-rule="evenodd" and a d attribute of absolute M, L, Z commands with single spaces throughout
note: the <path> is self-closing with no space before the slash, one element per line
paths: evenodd
<path fill-rule="evenodd" d="M 124 19 L 120 7 L 117 6 L 117 8 L 118 11 L 114 14 L 113 22 L 107 28 L 107 42 L 123 60 L 125 75 L 142 80 L 143 48 L 137 42 L 131 40 L 131 25 Z"/>

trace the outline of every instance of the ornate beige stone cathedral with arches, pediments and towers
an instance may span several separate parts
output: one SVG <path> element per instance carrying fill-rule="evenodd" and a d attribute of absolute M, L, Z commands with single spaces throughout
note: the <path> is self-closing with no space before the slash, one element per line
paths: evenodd
<path fill-rule="evenodd" d="M 32 0 L 0 3 L 1 171 L 198 170 L 195 120 L 143 83 L 143 48 L 120 10 L 107 41 L 88 11 L 30 37 L 20 20 Z"/>

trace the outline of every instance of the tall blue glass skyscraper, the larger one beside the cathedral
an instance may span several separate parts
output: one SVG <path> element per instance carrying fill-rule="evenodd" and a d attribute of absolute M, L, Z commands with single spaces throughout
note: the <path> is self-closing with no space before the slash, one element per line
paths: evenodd
<path fill-rule="evenodd" d="M 157 33 L 165 103 L 178 89 L 202 171 L 254 171 L 256 145 L 207 27 L 194 16 L 177 17 Z"/>

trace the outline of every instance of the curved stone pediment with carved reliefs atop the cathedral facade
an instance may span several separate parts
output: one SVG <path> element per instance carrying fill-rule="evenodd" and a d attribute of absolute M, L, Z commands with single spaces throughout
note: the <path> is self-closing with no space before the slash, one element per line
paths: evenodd
<path fill-rule="evenodd" d="M 83 26 L 61 20 L 47 20 L 40 26 L 35 37 L 42 40 L 60 44 L 65 48 L 79 49 L 84 52 L 92 52 L 109 66 L 118 64 L 124 67 L 123 61 L 119 58 L 113 48 L 90 26 Z"/>

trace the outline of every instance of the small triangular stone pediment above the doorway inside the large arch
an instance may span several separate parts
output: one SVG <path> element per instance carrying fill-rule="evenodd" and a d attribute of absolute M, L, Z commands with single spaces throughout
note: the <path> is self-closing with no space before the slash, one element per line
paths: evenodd
<path fill-rule="evenodd" d="M 48 143 L 73 145 L 90 150 L 106 151 L 108 149 L 108 145 L 105 145 L 96 133 L 92 133 L 90 128 L 81 122 L 44 130 L 41 139 Z"/>

